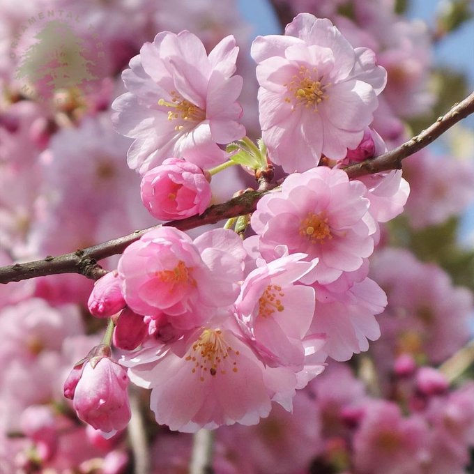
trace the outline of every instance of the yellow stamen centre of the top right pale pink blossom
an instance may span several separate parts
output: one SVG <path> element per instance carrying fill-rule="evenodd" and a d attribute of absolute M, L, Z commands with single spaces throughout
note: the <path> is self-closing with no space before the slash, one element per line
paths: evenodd
<path fill-rule="evenodd" d="M 300 66 L 298 74 L 291 77 L 291 82 L 283 84 L 290 94 L 284 100 L 293 103 L 293 110 L 298 105 L 303 105 L 306 109 L 318 112 L 318 104 L 328 98 L 325 91 L 330 84 L 323 85 L 314 77 L 318 77 L 316 68 L 310 71 L 306 66 Z"/>

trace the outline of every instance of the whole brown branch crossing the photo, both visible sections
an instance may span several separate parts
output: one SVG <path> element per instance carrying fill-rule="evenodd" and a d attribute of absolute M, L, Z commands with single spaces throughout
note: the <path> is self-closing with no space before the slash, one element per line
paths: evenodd
<path fill-rule="evenodd" d="M 452 125 L 473 113 L 474 92 L 462 102 L 453 105 L 447 114 L 439 117 L 435 123 L 420 132 L 416 137 L 408 140 L 408 142 L 376 158 L 369 158 L 369 160 L 350 165 L 344 168 L 344 171 L 349 175 L 349 178 L 358 178 L 358 176 L 365 174 L 374 174 L 390 169 L 401 169 L 402 160 L 404 160 L 404 158 L 420 151 L 451 128 Z M 223 204 L 210 206 L 201 215 L 195 215 L 183 220 L 174 220 L 163 225 L 186 231 L 205 224 L 215 224 L 215 222 L 219 222 L 220 220 L 237 217 L 238 215 L 250 214 L 255 211 L 257 202 L 263 194 L 268 192 L 269 188 L 270 186 L 264 185 L 257 191 L 247 190 L 243 194 L 240 194 L 240 196 L 234 197 Z M 59 257 L 46 257 L 43 260 L 15 263 L 14 265 L 1 267 L 0 284 L 20 282 L 21 280 L 28 280 L 29 278 L 59 273 L 79 273 L 93 280 L 97 280 L 107 273 L 106 270 L 103 270 L 98 265 L 98 260 L 111 257 L 115 254 L 121 254 L 128 245 L 138 240 L 147 231 L 155 229 L 156 227 L 159 226 L 135 231 L 128 236 L 108 240 L 107 242 L 93 245 L 93 247 L 87 247 L 70 254 L 60 255 Z"/>

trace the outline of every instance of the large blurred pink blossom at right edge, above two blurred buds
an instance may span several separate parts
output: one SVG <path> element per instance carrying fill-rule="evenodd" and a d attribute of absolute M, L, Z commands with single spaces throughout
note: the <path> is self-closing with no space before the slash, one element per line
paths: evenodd
<path fill-rule="evenodd" d="M 438 364 L 468 342 L 473 296 L 444 270 L 395 248 L 377 252 L 371 270 L 388 296 L 379 318 L 382 337 L 372 346 L 376 354 L 391 359 L 408 353 Z"/>

